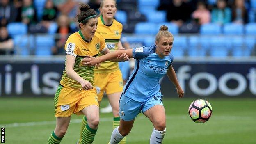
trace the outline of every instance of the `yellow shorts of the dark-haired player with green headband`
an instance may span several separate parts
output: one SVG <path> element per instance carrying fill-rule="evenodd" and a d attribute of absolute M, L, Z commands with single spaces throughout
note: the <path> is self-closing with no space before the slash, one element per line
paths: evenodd
<path fill-rule="evenodd" d="M 69 117 L 82 114 L 82 109 L 89 105 L 98 105 L 96 89 L 84 90 L 59 85 L 55 97 L 55 117 Z M 99 105 L 98 105 L 99 106 Z"/>

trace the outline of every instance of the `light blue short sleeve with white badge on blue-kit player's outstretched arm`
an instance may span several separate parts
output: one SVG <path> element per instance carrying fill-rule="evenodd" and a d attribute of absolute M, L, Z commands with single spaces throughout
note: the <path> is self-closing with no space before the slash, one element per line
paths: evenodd
<path fill-rule="evenodd" d="M 139 47 L 133 48 L 133 57 L 135 59 L 143 59 L 154 53 L 153 47 Z"/>

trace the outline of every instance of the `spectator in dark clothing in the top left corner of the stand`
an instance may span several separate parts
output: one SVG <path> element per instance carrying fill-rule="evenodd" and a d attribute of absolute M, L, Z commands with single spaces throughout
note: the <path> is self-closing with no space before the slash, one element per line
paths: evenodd
<path fill-rule="evenodd" d="M 7 23 L 16 21 L 18 11 L 9 0 L 0 1 L 0 25 L 5 26 Z"/>

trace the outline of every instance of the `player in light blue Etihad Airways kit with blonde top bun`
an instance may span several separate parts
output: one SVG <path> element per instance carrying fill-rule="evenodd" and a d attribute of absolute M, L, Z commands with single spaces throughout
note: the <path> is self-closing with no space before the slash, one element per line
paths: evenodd
<path fill-rule="evenodd" d="M 171 48 L 173 35 L 168 27 L 162 25 L 155 37 L 155 45 L 128 50 L 117 50 L 101 57 L 88 56 L 82 61 L 85 65 L 95 65 L 114 59 L 122 53 L 136 59 L 136 65 L 119 101 L 120 125 L 112 132 L 110 144 L 118 144 L 130 133 L 135 117 L 144 113 L 153 123 L 150 144 L 160 144 L 165 135 L 165 108 L 160 91 L 160 78 L 167 74 L 169 80 L 176 86 L 179 98 L 184 96 L 176 73 L 172 67 L 173 55 Z"/>

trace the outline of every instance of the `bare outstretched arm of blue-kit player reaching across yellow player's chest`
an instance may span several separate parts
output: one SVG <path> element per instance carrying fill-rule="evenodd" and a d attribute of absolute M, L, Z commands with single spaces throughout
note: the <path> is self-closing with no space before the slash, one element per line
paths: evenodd
<path fill-rule="evenodd" d="M 133 57 L 133 49 L 116 50 L 96 58 L 92 56 L 86 56 L 84 59 L 82 59 L 82 65 L 94 66 L 95 64 L 99 64 L 101 62 L 105 62 L 112 59 L 125 59 L 126 55 L 128 57 Z"/>

